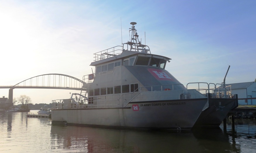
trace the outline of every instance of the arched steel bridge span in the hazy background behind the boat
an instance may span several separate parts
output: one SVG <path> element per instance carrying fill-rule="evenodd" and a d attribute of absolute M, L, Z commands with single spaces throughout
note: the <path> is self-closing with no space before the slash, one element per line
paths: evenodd
<path fill-rule="evenodd" d="M 84 81 L 66 74 L 42 74 L 21 81 L 14 86 L 0 86 L 0 88 L 9 88 L 9 102 L 13 100 L 13 89 L 15 88 L 37 88 L 37 89 L 66 89 L 86 91 L 83 88 Z"/>

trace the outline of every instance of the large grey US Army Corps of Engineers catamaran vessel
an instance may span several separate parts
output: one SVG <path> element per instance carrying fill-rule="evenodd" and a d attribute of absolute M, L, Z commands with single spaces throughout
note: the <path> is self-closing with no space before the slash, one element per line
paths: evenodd
<path fill-rule="evenodd" d="M 212 91 L 211 95 L 200 93 L 200 89 L 187 90 L 165 70 L 171 59 L 151 54 L 149 47 L 139 41 L 136 22 L 131 25 L 130 41 L 94 54 L 91 66 L 95 66 L 95 73 L 83 77 L 86 92 L 75 93 L 76 98 L 63 103 L 54 102 L 52 121 L 181 130 L 192 128 L 197 119 L 199 125 L 216 125 L 215 118 L 222 118 L 220 113 L 224 112 L 218 110 L 231 109 L 225 100 L 219 100 L 227 98 L 234 103 L 231 92 L 219 90 L 216 85 L 210 90 L 209 84 L 205 91 Z"/>

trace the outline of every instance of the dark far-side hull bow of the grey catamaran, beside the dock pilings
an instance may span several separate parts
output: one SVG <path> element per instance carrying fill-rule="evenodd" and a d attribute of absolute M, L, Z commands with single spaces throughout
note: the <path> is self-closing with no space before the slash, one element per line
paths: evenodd
<path fill-rule="evenodd" d="M 200 114 L 195 127 L 219 127 L 228 112 L 236 107 L 237 95 L 233 98 L 209 98 L 209 107 Z"/>

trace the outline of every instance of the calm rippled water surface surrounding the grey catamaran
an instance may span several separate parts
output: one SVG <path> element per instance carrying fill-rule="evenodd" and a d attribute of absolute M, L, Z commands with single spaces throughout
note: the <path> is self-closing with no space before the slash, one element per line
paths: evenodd
<path fill-rule="evenodd" d="M 231 125 L 226 131 L 223 125 L 189 132 L 127 130 L 64 126 L 27 118 L 26 112 L 0 112 L 0 152 L 256 152 L 255 123 L 236 120 L 235 131 Z"/>

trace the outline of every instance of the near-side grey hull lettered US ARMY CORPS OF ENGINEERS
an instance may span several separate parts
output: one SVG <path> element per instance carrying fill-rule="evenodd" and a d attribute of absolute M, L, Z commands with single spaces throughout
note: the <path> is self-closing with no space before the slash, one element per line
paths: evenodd
<path fill-rule="evenodd" d="M 119 108 L 52 109 L 51 120 L 66 124 L 148 129 L 190 129 L 205 99 L 133 102 Z"/>

